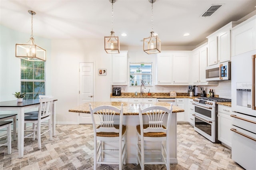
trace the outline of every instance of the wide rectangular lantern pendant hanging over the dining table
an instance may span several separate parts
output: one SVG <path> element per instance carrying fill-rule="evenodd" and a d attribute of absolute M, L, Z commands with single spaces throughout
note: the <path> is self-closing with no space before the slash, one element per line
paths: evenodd
<path fill-rule="evenodd" d="M 46 61 L 46 50 L 39 47 L 34 42 L 33 36 L 33 15 L 36 15 L 34 11 L 28 11 L 31 14 L 31 36 L 30 40 L 25 44 L 16 43 L 15 56 L 28 61 Z"/>

